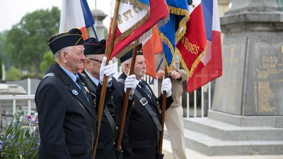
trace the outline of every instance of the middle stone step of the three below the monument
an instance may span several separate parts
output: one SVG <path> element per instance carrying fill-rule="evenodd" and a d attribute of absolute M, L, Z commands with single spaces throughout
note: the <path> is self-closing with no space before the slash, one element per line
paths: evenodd
<path fill-rule="evenodd" d="M 283 128 L 240 127 L 209 118 L 185 118 L 184 127 L 222 140 L 283 140 Z"/>

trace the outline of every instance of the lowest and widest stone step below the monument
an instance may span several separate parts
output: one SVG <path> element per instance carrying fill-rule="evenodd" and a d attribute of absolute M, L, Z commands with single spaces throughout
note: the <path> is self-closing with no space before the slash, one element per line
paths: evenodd
<path fill-rule="evenodd" d="M 206 134 L 184 129 L 187 148 L 208 156 L 221 155 L 283 155 L 283 140 L 224 141 Z M 164 131 L 164 138 L 169 139 Z M 173 141 L 171 141 L 173 142 Z"/>

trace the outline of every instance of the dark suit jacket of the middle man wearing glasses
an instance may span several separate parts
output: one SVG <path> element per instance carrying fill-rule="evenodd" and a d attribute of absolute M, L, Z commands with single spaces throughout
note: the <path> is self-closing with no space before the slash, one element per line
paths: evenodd
<path fill-rule="evenodd" d="M 85 70 L 82 71 L 82 74 L 85 74 L 87 78 L 92 82 L 94 87 L 96 87 L 95 83 L 88 77 L 88 74 L 85 72 Z M 123 92 L 121 92 L 118 89 L 118 82 L 114 77 L 112 77 L 112 87 L 117 89 L 113 90 L 112 97 L 106 106 L 109 109 L 114 121 L 116 122 L 116 126 L 118 127 L 120 125 L 121 112 L 123 108 L 125 93 L 124 90 Z M 132 105 L 132 103 L 133 101 L 129 100 L 128 105 Z M 108 122 L 108 119 L 103 112 L 101 118 L 100 132 L 98 137 L 98 145 L 96 149 L 96 158 L 116 159 L 116 154 L 114 149 L 115 148 L 114 143 L 116 142 L 115 140 L 116 139 L 113 136 L 111 125 Z"/>

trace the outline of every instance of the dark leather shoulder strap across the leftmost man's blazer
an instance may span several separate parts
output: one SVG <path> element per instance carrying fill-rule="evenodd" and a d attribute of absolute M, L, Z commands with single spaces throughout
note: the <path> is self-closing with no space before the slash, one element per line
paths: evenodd
<path fill-rule="evenodd" d="M 47 73 L 47 74 L 44 75 L 44 77 L 43 77 L 42 79 L 44 79 L 44 78 L 47 77 L 47 76 L 53 76 L 53 77 L 58 78 L 58 79 L 62 82 L 62 84 L 63 84 L 63 85 L 67 88 L 67 90 L 68 90 L 68 87 L 64 84 L 62 78 L 61 78 L 58 74 L 56 74 L 56 73 Z M 91 129 L 91 150 L 92 150 L 92 149 L 93 149 L 93 145 L 94 145 L 94 143 L 95 143 L 95 134 L 94 134 L 93 123 L 92 123 L 91 118 L 90 118 L 90 116 L 89 116 L 89 114 L 88 114 L 88 111 L 85 109 L 85 107 L 83 106 L 83 104 L 82 104 L 76 97 L 74 97 L 74 98 L 77 100 L 77 102 L 79 103 L 80 107 L 82 108 L 82 110 L 83 110 L 83 112 L 84 112 L 84 114 L 85 114 L 85 117 L 86 117 L 86 119 L 87 119 L 87 121 L 88 121 L 88 125 L 89 125 L 89 127 L 90 127 L 90 129 Z"/>

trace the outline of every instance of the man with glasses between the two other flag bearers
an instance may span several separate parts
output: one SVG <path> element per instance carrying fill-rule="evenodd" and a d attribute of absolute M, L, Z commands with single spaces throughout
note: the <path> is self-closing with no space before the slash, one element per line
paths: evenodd
<path fill-rule="evenodd" d="M 99 68 L 102 65 L 103 57 L 105 58 L 106 40 L 102 39 L 98 42 L 95 38 L 86 39 L 84 40 L 84 48 L 85 68 L 82 71 L 82 75 L 85 77 L 89 87 L 96 89 L 100 79 Z M 136 89 L 136 76 L 129 76 L 127 81 L 129 82 L 126 82 L 125 87 L 131 88 L 131 92 L 133 92 Z M 118 88 L 117 80 L 114 77 L 112 77 L 112 86 Z M 120 124 L 124 96 L 124 91 L 114 90 L 111 99 L 103 109 L 96 159 L 116 159 L 115 142 L 118 135 L 117 128 Z M 131 96 L 131 99 L 128 102 L 127 112 L 131 111 L 133 96 Z"/>

